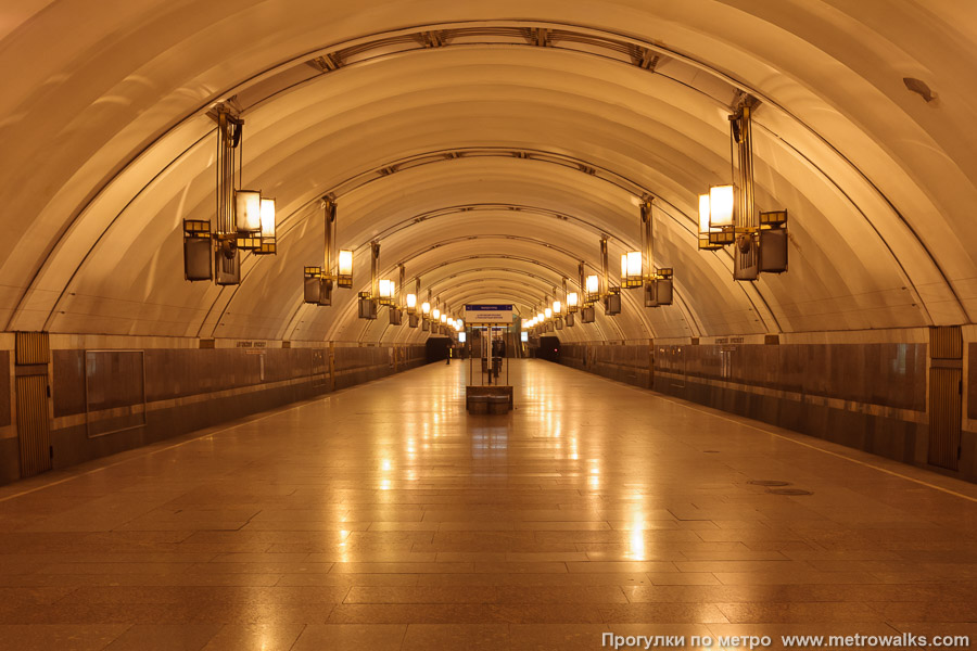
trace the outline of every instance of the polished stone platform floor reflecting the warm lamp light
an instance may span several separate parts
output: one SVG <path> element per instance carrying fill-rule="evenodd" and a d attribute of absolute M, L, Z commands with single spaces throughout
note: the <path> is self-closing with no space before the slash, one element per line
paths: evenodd
<path fill-rule="evenodd" d="M 467 416 L 436 363 L 3 487 L 0 649 L 977 640 L 977 487 L 510 371 L 509 416 Z"/>

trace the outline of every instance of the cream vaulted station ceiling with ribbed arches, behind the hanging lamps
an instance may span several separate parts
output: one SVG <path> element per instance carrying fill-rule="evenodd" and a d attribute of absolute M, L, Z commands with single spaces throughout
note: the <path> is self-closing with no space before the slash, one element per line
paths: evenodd
<path fill-rule="evenodd" d="M 616 277 L 645 196 L 675 305 L 647 310 L 625 292 L 621 316 L 561 336 L 962 323 L 977 310 L 973 12 L 923 0 L 136 4 L 0 10 L 0 65 L 15 71 L 0 95 L 8 330 L 418 341 L 382 310 L 356 319 L 370 241 L 384 275 L 403 263 L 454 310 L 530 310 L 581 260 L 596 268 L 601 234 Z M 743 93 L 761 101 L 758 203 L 790 212 L 790 270 L 757 283 L 734 282 L 732 258 L 698 252 L 695 235 L 696 195 L 729 180 L 727 116 Z M 279 254 L 245 256 L 238 288 L 181 273 L 182 219 L 213 215 L 217 102 L 245 120 L 244 184 L 278 200 Z M 326 194 L 358 264 L 354 290 L 319 308 L 301 303 L 301 272 L 321 260 Z"/>

